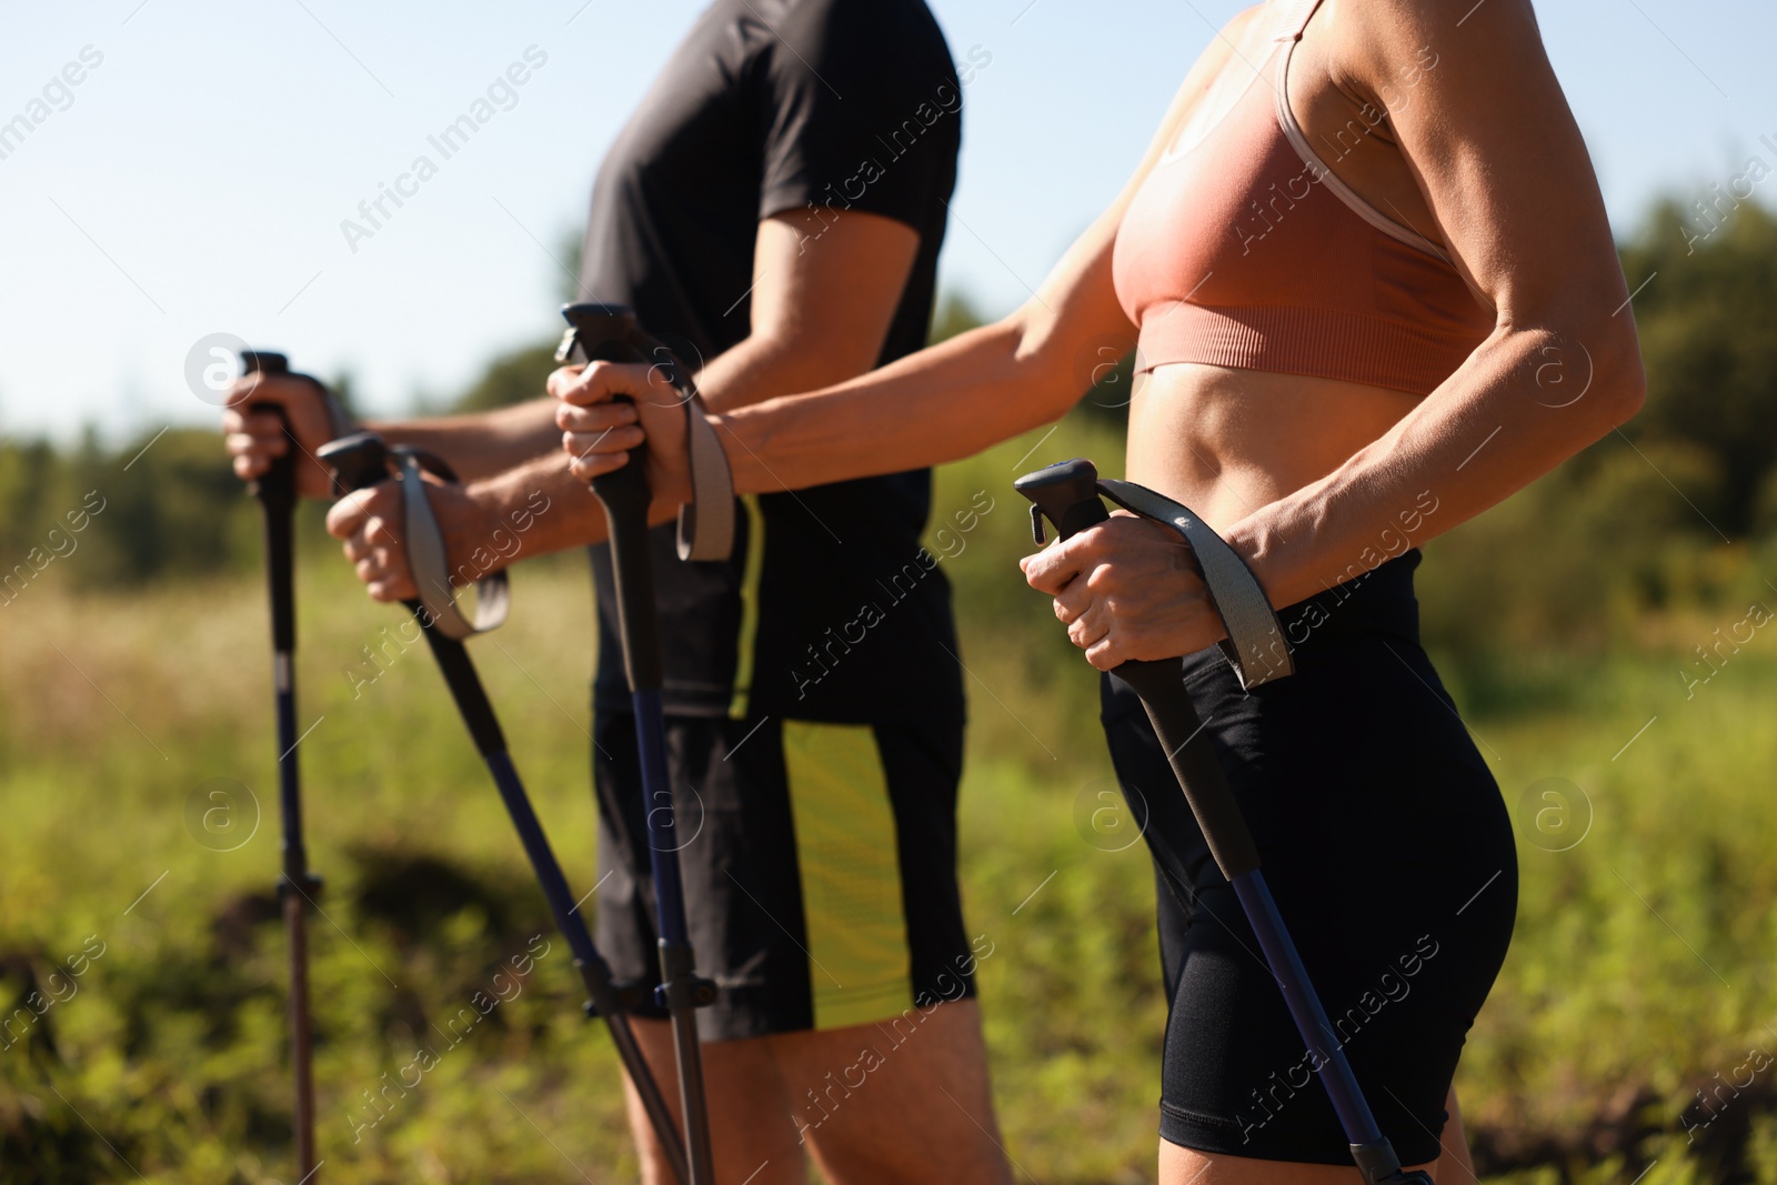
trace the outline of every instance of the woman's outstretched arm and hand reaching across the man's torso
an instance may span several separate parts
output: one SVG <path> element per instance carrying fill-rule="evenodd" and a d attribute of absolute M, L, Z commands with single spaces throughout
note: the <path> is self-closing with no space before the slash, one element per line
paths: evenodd
<path fill-rule="evenodd" d="M 1093 345 L 1105 336 L 1134 345 L 1111 286 L 1123 211 L 1235 52 L 1253 12 L 1237 16 L 1198 59 L 1116 203 L 1024 307 L 849 382 L 716 416 L 736 489 L 801 489 L 956 460 L 1073 407 L 1091 386 L 1082 375 L 1091 371 L 1086 359 L 1098 361 Z M 576 476 L 592 478 L 622 465 L 626 451 L 649 439 L 650 485 L 666 501 L 682 501 L 682 412 L 670 393 L 649 400 L 645 373 L 597 362 L 556 371 L 549 391 L 563 402 L 556 416 L 563 448 L 574 457 Z M 640 412 L 610 403 L 615 394 L 636 396 Z"/>

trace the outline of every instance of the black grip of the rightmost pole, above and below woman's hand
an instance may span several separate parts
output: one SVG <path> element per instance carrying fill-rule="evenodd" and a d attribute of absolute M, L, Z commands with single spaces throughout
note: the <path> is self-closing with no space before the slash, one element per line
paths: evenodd
<path fill-rule="evenodd" d="M 1070 538 L 1111 517 L 1098 497 L 1098 469 L 1084 458 L 1064 460 L 1025 474 L 1013 483 L 1031 499 L 1031 517 L 1041 540 L 1041 519 L 1048 519 L 1061 538 Z M 1198 709 L 1185 691 L 1180 659 L 1130 659 L 1112 672 L 1141 696 L 1153 732 L 1166 750 L 1166 760 L 1178 778 L 1191 814 L 1196 815 L 1215 865 L 1230 881 L 1258 867 L 1258 847 L 1246 815 L 1228 787 L 1228 775 Z"/>

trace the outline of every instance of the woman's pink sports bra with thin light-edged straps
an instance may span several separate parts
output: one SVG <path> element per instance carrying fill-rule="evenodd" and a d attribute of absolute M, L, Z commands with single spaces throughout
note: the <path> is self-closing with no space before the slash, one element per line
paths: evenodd
<path fill-rule="evenodd" d="M 1123 215 L 1118 300 L 1137 366 L 1203 362 L 1427 394 L 1493 332 L 1448 256 L 1381 215 L 1315 155 L 1288 103 L 1290 55 L 1320 0 L 1272 0 L 1285 28 L 1191 142 L 1167 146 Z M 1374 124 L 1352 119 L 1345 155 Z M 1324 139 L 1324 137 L 1322 137 Z"/>

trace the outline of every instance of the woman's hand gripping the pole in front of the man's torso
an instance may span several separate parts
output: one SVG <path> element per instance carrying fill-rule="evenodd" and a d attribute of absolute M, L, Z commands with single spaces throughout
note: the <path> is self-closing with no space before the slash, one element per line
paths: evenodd
<path fill-rule="evenodd" d="M 654 501 L 691 501 L 684 396 L 666 382 L 659 366 L 563 366 L 549 375 L 549 394 L 560 400 L 556 426 L 562 428 L 562 449 L 569 455 L 569 469 L 576 478 L 590 481 L 622 469 L 629 462 L 629 449 L 647 444 L 649 490 Z"/>

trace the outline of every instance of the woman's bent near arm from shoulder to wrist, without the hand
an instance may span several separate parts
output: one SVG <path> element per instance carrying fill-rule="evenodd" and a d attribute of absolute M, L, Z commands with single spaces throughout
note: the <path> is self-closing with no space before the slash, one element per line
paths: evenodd
<path fill-rule="evenodd" d="M 1498 309 L 1493 334 L 1386 435 L 1228 531 L 1274 604 L 1374 569 L 1503 501 L 1642 403 L 1635 314 L 1605 203 L 1528 0 L 1340 5 L 1342 85 L 1368 96 L 1430 44 L 1393 115 L 1452 258 Z M 1372 99 L 1381 107 L 1379 99 Z M 1436 513 L 1423 510 L 1436 499 Z"/>

